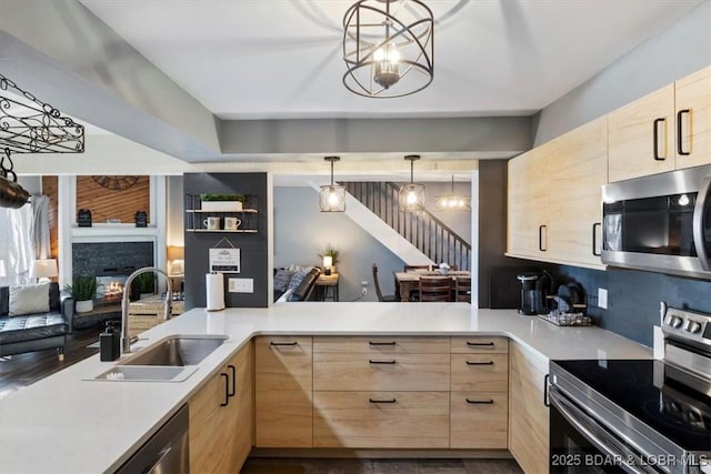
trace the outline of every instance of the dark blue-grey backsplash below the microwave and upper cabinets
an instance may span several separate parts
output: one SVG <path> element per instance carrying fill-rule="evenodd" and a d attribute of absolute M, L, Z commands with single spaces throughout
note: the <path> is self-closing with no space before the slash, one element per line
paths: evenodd
<path fill-rule="evenodd" d="M 598 289 L 608 290 L 608 309 L 590 307 L 595 324 L 647 346 L 659 325 L 659 304 L 711 313 L 711 281 L 691 280 L 635 270 L 607 271 L 561 265 L 561 282 L 577 281 L 597 304 Z"/>

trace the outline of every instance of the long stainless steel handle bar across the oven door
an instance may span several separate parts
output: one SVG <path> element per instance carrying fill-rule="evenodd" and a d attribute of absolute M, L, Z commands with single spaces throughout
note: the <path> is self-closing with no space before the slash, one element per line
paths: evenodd
<path fill-rule="evenodd" d="M 653 467 L 644 465 L 644 463 L 642 463 L 642 458 L 621 442 L 612 440 L 611 436 L 605 436 L 607 440 L 603 440 L 600 435 L 590 431 L 580 420 L 584 420 L 589 425 L 599 425 L 599 423 L 568 402 L 555 386 L 551 386 L 549 389 L 548 396 L 551 405 L 558 410 L 558 412 L 575 428 L 575 431 L 578 431 L 578 433 L 583 435 L 603 454 L 611 456 L 613 460 L 620 460 L 620 463 L 615 465 L 631 474 L 649 474 L 659 472 L 647 470 L 645 467 L 650 467 L 652 470 Z M 634 464 L 629 463 L 630 460 L 633 460 Z"/>

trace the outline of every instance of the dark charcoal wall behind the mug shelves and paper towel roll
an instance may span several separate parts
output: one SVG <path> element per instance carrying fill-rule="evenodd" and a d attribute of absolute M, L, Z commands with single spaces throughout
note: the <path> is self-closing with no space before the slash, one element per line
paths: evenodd
<path fill-rule="evenodd" d="M 206 306 L 204 275 L 209 271 L 209 250 L 223 238 L 240 249 L 240 273 L 224 275 L 224 303 L 228 307 L 267 307 L 272 295 L 268 286 L 268 202 L 267 173 L 187 173 L 186 194 L 254 194 L 258 201 L 256 234 L 228 232 L 184 232 L 186 240 L 186 309 Z M 224 246 L 221 244 L 220 246 Z M 253 279 L 253 293 L 229 293 L 228 278 Z"/>

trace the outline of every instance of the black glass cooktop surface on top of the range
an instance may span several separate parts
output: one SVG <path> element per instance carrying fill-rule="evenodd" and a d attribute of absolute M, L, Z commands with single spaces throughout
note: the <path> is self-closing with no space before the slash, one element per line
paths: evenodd
<path fill-rule="evenodd" d="M 553 361 L 687 451 L 711 451 L 711 399 L 663 374 L 652 360 Z M 658 376 L 654 377 L 654 365 Z M 655 383 L 657 382 L 657 383 Z"/>

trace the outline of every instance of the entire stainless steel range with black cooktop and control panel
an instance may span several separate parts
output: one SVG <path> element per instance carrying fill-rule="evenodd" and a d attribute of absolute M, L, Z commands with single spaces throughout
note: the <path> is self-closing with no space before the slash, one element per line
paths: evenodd
<path fill-rule="evenodd" d="M 664 360 L 551 361 L 551 473 L 711 474 L 711 315 L 662 307 Z"/>

